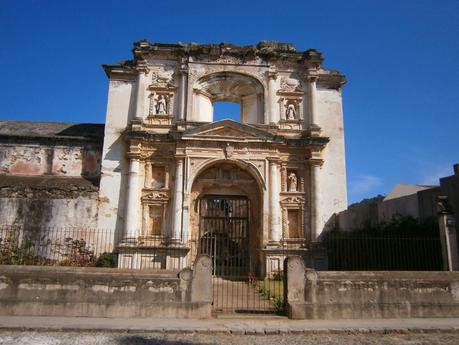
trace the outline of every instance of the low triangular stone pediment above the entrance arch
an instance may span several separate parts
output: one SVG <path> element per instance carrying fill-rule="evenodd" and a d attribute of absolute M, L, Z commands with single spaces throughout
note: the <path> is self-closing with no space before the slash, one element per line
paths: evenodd
<path fill-rule="evenodd" d="M 274 141 L 274 136 L 250 125 L 222 120 L 190 129 L 183 133 L 182 139 Z"/>

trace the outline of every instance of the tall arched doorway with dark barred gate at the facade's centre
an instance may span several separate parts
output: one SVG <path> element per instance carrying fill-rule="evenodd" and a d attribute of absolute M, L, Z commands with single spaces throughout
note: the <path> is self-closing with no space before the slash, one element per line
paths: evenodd
<path fill-rule="evenodd" d="M 214 274 L 259 272 L 262 187 L 252 173 L 231 161 L 211 164 L 194 179 L 190 201 L 191 235 L 198 254 L 213 258 Z"/>

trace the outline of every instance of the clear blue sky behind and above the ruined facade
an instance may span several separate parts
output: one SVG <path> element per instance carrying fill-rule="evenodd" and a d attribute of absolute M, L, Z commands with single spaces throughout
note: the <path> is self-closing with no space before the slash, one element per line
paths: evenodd
<path fill-rule="evenodd" d="M 1 0 L 0 119 L 104 122 L 101 64 L 142 38 L 320 50 L 348 79 L 350 202 L 459 162 L 459 0 Z"/>

